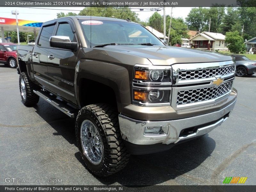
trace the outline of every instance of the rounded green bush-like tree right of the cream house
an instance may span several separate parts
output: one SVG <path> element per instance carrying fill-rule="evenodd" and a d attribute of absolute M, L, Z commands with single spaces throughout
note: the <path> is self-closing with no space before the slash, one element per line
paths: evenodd
<path fill-rule="evenodd" d="M 245 53 L 244 39 L 239 35 L 238 31 L 227 32 L 225 42 L 232 53 Z"/>

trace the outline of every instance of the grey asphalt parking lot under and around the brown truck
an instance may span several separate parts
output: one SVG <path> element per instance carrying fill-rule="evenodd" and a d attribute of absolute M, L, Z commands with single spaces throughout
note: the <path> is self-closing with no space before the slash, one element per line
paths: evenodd
<path fill-rule="evenodd" d="M 226 177 L 256 184 L 256 75 L 236 77 L 236 106 L 221 126 L 168 151 L 131 156 L 124 170 L 108 178 L 84 168 L 74 119 L 42 99 L 25 107 L 18 81 L 16 69 L 0 64 L 0 185 L 222 185 Z M 5 182 L 13 177 L 40 182 Z"/>

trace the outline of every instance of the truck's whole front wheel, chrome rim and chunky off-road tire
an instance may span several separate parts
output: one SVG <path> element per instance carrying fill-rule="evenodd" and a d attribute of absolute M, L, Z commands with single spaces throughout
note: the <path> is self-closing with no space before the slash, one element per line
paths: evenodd
<path fill-rule="evenodd" d="M 116 173 L 129 161 L 117 113 L 106 104 L 88 105 L 79 111 L 76 140 L 86 168 L 97 176 Z"/>

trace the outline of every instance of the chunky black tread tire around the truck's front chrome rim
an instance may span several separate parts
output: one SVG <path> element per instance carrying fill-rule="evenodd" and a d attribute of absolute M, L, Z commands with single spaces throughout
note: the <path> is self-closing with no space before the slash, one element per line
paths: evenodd
<path fill-rule="evenodd" d="M 112 175 L 120 170 L 122 170 L 129 161 L 130 154 L 128 153 L 124 141 L 121 137 L 120 129 L 119 129 L 119 122 L 118 122 L 118 114 L 115 109 L 113 109 L 108 104 L 93 104 L 83 107 L 77 117 L 76 117 L 76 139 L 77 143 L 80 142 L 80 127 L 77 124 L 77 120 L 79 116 L 83 113 L 86 113 L 87 110 L 92 111 L 100 121 L 102 128 L 104 129 L 105 136 L 107 139 L 107 146 L 106 154 L 103 158 L 107 158 L 104 165 L 102 166 L 103 169 L 100 172 L 95 172 L 90 169 L 87 165 L 87 169 L 91 171 L 93 174 L 97 176 L 109 176 Z M 77 135 L 78 134 L 78 135 Z M 79 145 L 80 153 L 82 149 Z M 83 157 L 83 156 L 82 156 Z M 85 161 L 84 161 L 85 162 Z M 86 162 L 85 162 L 86 164 Z"/>

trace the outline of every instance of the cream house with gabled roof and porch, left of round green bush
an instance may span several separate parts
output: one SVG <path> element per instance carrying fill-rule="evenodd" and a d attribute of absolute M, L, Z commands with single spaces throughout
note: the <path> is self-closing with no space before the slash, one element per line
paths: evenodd
<path fill-rule="evenodd" d="M 202 32 L 190 39 L 193 47 L 207 49 L 210 43 L 210 50 L 228 50 L 225 43 L 225 35 L 221 33 Z"/>

